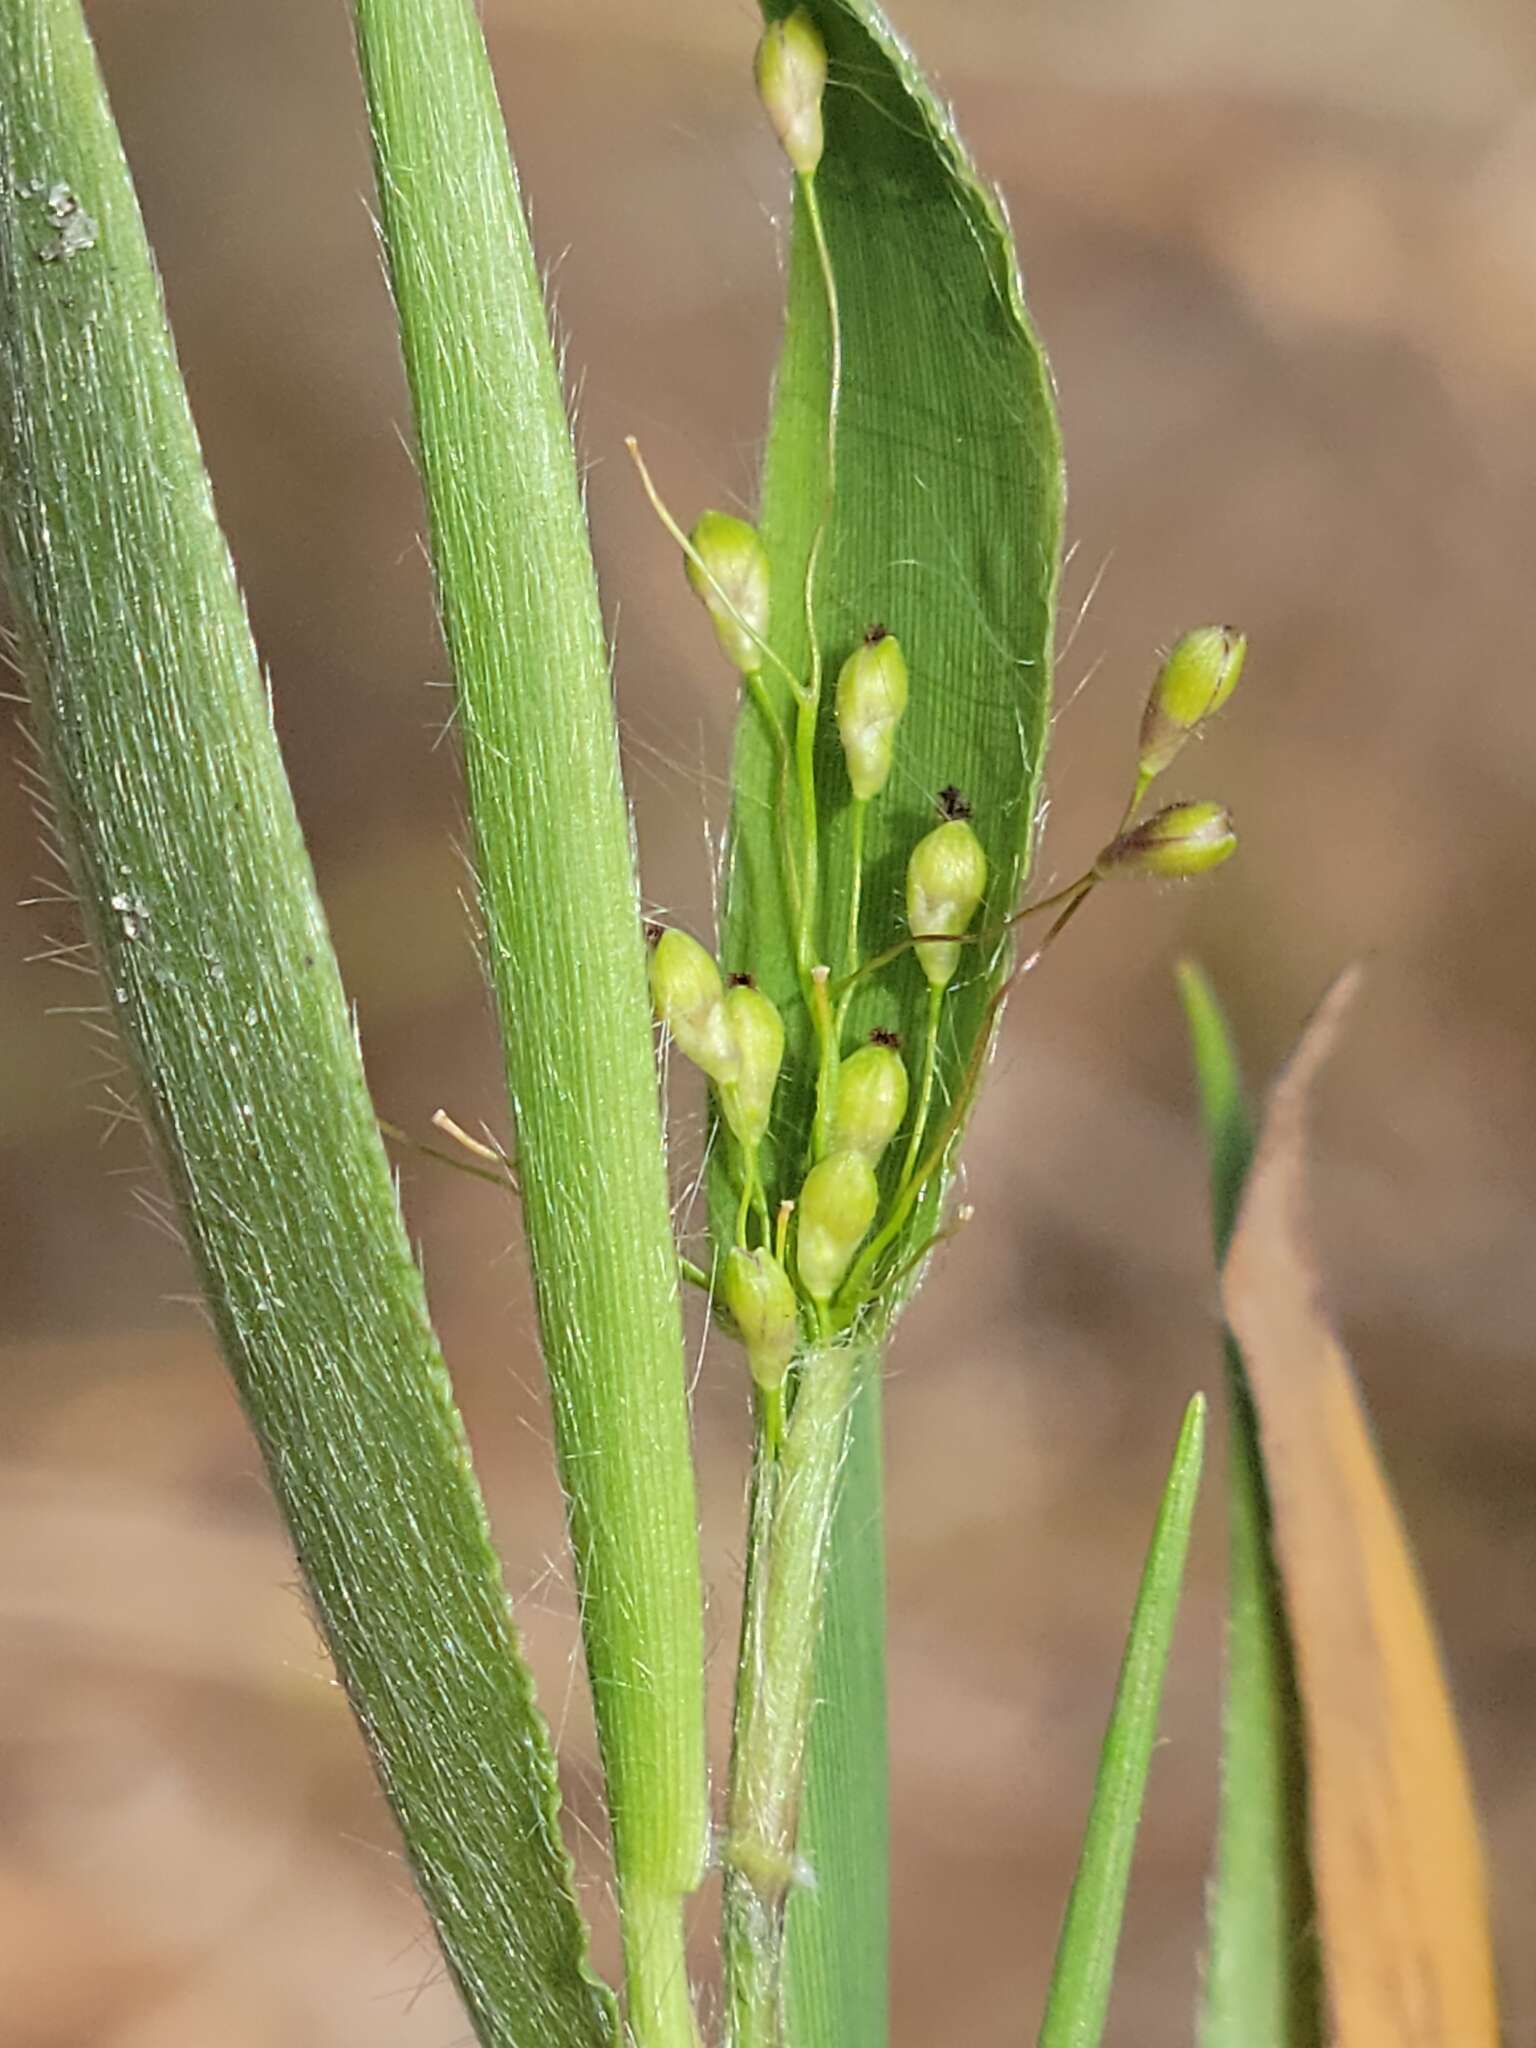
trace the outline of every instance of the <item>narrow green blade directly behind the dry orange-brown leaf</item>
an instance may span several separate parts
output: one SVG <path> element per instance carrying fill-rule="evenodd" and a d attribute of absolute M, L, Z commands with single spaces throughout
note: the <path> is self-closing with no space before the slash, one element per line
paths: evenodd
<path fill-rule="evenodd" d="M 1253 1126 L 1227 1018 L 1214 989 L 1190 963 L 1180 967 L 1180 997 L 1200 1087 L 1221 1264 L 1253 1157 Z M 1231 1335 L 1225 1350 L 1227 1679 L 1200 2048 L 1321 2048 L 1323 2003 L 1294 1651 L 1274 1563 L 1253 1399 Z"/>

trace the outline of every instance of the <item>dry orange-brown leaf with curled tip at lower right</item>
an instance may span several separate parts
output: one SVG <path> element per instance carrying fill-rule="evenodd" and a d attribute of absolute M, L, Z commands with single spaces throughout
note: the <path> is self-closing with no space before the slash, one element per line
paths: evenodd
<path fill-rule="evenodd" d="M 1337 2048 L 1497 2048 L 1473 1792 L 1423 1589 L 1305 1217 L 1307 1106 L 1358 973 L 1282 1073 L 1223 1274 L 1296 1647 Z"/>

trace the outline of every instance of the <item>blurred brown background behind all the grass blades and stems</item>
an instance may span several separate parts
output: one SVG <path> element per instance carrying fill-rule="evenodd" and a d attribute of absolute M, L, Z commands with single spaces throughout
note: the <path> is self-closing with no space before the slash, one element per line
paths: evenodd
<path fill-rule="evenodd" d="M 340 0 L 90 8 L 383 1114 L 500 1120 L 453 748 Z M 1536 16 L 1516 0 L 905 0 L 999 180 L 1053 350 L 1075 555 L 1047 870 L 1098 844 L 1153 649 L 1241 621 L 1190 793 L 1243 856 L 1102 901 L 1018 999 L 977 1221 L 891 1384 L 897 2042 L 1032 2034 L 1159 1466 L 1217 1384 L 1169 967 L 1255 1071 L 1372 961 L 1325 1092 L 1331 1288 L 1438 1604 L 1536 2034 Z M 569 365 L 647 895 L 702 918 L 725 672 L 621 438 L 752 489 L 782 180 L 745 0 L 487 0 Z M 1092 594 L 1092 602 L 1085 600 Z M 1081 621 L 1075 612 L 1085 604 Z M 27 965 L 0 805 L 0 2038 L 465 2038 L 315 1655 L 256 1458 L 100 1049 Z M 551 1718 L 600 1862 L 516 1219 L 408 1169 Z M 717 1708 L 745 1427 L 696 1395 Z M 1210 1489 L 1112 2040 L 1190 2038 L 1214 1796 Z M 711 1907 L 700 1907 L 707 1937 Z"/>

